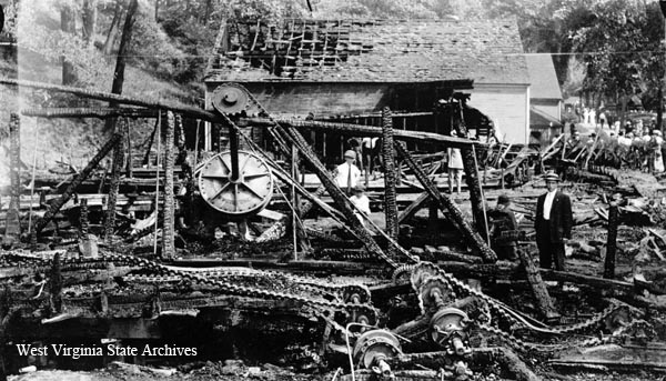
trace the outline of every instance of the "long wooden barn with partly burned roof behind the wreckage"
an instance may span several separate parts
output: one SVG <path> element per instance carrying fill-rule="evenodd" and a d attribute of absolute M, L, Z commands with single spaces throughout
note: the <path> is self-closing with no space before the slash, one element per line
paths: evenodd
<path fill-rule="evenodd" d="M 506 140 L 529 136 L 529 81 L 515 20 L 230 20 L 206 76 L 206 109 L 225 82 L 248 88 L 272 116 L 448 133 L 433 112 L 440 99 L 471 93 L 468 104 L 498 123 Z M 481 121 L 480 121 L 481 120 Z M 471 128 L 483 140 L 486 118 Z M 205 147 L 215 144 L 206 128 Z M 339 160 L 345 139 L 312 132 L 323 158 Z M 412 149 L 421 149 L 412 147 Z"/>

